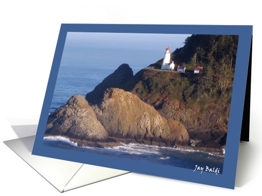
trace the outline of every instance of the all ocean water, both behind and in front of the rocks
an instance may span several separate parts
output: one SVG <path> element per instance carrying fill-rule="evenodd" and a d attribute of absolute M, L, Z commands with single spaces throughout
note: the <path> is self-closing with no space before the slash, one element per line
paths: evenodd
<path fill-rule="evenodd" d="M 164 49 L 101 48 L 79 40 L 67 40 L 50 112 L 64 105 L 72 95 L 82 94 L 85 96 L 123 63 L 129 64 L 134 74 L 137 73 L 149 64 L 161 59 Z M 223 155 L 218 153 L 182 151 L 143 144 L 123 144 L 123 146 L 114 148 L 78 147 L 76 143 L 72 143 L 62 136 L 45 138 L 44 144 L 188 169 L 194 169 L 195 165 L 207 165 L 212 168 L 220 168 L 220 173 L 222 173 L 223 167 Z"/>

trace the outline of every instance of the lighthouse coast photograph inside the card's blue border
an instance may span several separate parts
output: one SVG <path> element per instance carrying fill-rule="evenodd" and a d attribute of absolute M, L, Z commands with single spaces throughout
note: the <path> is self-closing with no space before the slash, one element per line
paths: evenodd
<path fill-rule="evenodd" d="M 67 32 L 43 144 L 223 171 L 238 35 Z"/>

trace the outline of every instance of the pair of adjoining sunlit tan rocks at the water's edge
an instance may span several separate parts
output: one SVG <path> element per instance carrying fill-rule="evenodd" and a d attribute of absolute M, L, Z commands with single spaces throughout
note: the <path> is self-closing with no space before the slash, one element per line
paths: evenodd
<path fill-rule="evenodd" d="M 107 89 L 102 101 L 92 106 L 82 95 L 72 96 L 49 115 L 45 134 L 84 140 L 80 143 L 96 147 L 120 142 L 159 146 L 189 143 L 181 123 L 166 120 L 138 96 L 118 88 Z"/>

